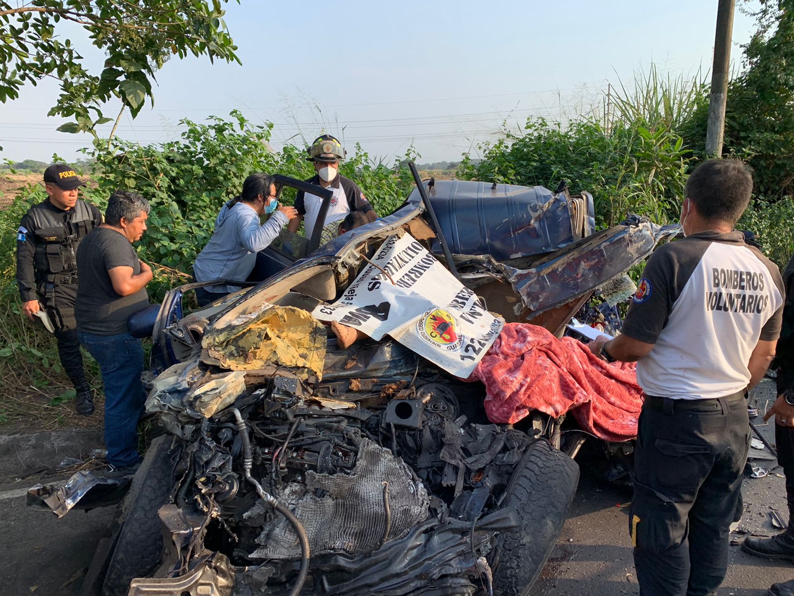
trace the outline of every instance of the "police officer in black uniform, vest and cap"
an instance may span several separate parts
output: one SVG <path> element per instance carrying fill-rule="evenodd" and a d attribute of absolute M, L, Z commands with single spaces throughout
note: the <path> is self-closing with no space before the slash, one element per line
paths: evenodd
<path fill-rule="evenodd" d="M 17 285 L 25 316 L 34 320 L 44 311 L 52 322 L 61 365 L 75 385 L 75 409 L 90 416 L 94 401 L 75 323 L 75 255 L 79 242 L 102 223 L 102 213 L 77 198 L 81 186 L 85 184 L 66 164 L 44 171 L 48 199 L 29 209 L 17 232 Z"/>

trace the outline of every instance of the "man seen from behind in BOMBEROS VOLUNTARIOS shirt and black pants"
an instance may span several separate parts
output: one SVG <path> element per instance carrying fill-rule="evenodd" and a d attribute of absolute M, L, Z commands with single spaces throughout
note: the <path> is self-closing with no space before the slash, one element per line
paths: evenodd
<path fill-rule="evenodd" d="M 646 393 L 634 459 L 630 535 L 642 596 L 705 596 L 725 578 L 750 446 L 744 395 L 781 332 L 783 280 L 734 224 L 753 177 L 738 160 L 689 176 L 685 238 L 649 259 L 622 334 L 591 350 L 637 361 Z"/>

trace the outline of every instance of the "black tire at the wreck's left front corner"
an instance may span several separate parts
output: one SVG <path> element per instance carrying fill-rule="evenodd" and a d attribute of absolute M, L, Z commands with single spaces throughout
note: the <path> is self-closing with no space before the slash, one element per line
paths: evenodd
<path fill-rule="evenodd" d="M 163 535 L 157 510 L 173 486 L 171 437 L 152 441 L 129 493 L 121 501 L 121 531 L 102 584 L 102 596 L 125 596 L 129 582 L 145 577 L 160 563 Z"/>

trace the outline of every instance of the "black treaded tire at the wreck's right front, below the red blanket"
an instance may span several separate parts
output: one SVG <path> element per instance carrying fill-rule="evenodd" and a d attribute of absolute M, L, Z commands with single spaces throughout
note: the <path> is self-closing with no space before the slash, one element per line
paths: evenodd
<path fill-rule="evenodd" d="M 579 483 L 579 466 L 544 440 L 530 444 L 501 507 L 514 507 L 518 528 L 499 536 L 494 591 L 526 596 L 549 558 Z"/>

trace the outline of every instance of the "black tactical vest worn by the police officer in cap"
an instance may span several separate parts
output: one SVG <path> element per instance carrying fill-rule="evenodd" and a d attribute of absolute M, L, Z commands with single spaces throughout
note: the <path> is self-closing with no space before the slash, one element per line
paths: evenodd
<path fill-rule="evenodd" d="M 77 284 L 77 246 L 94 229 L 87 204 L 79 200 L 65 222 L 64 215 L 48 209 L 33 209 L 30 215 L 35 226 L 33 262 L 40 293 L 51 294 L 57 284 Z"/>

